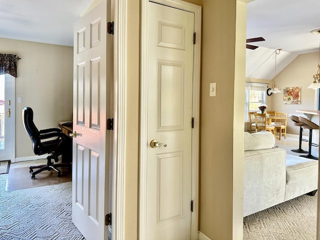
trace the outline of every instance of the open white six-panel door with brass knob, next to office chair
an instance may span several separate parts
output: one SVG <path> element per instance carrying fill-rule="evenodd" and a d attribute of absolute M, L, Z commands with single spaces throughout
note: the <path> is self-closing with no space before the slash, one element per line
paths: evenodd
<path fill-rule="evenodd" d="M 109 14 L 103 0 L 74 26 L 72 221 L 86 240 L 107 239 Z"/>

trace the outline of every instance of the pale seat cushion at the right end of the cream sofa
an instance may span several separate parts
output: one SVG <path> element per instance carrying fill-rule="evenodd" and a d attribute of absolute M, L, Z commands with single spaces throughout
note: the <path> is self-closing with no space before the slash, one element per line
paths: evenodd
<path fill-rule="evenodd" d="M 286 183 L 292 183 L 317 175 L 318 161 L 299 157 L 294 155 L 286 155 Z"/>

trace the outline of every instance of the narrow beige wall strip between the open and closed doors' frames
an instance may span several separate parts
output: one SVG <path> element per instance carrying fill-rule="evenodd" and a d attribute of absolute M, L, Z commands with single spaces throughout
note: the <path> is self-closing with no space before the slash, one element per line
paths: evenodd
<path fill-rule="evenodd" d="M 140 1 L 127 1 L 127 94 L 124 239 L 138 239 Z"/>

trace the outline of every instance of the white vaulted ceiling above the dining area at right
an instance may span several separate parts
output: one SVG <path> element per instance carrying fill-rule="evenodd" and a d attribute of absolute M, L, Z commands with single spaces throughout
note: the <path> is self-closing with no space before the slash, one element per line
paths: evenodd
<path fill-rule="evenodd" d="M 254 0 L 247 4 L 247 38 L 262 36 L 259 46 L 246 49 L 246 77 L 272 79 L 301 53 L 318 51 L 320 34 L 320 0 Z M 316 69 L 317 62 L 314 63 Z"/>

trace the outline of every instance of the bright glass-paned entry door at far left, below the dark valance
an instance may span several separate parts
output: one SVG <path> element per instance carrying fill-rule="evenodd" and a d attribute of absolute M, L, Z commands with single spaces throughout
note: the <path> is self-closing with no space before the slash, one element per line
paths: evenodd
<path fill-rule="evenodd" d="M 0 75 L 0 160 L 14 162 L 14 81 L 9 74 Z"/>

